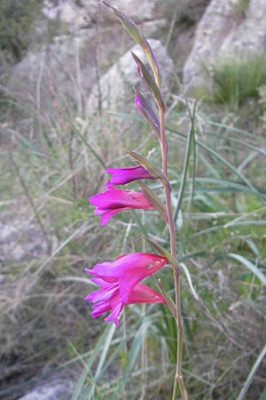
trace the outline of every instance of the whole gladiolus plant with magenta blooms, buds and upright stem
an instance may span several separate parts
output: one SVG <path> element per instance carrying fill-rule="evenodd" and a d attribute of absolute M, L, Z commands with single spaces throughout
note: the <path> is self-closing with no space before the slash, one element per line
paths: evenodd
<path fill-rule="evenodd" d="M 133 60 L 137 64 L 137 73 L 141 76 L 153 97 L 154 104 L 152 105 L 142 93 L 135 91 L 137 108 L 158 138 L 161 168 L 152 164 L 145 156 L 128 151 L 129 156 L 133 157 L 137 165 L 125 168 L 108 168 L 106 172 L 111 174 L 111 179 L 105 185 L 106 191 L 90 196 L 89 201 L 90 204 L 95 206 L 94 214 L 101 217 L 102 225 L 106 225 L 114 214 L 124 210 L 143 209 L 159 212 L 168 227 L 170 251 L 162 248 L 160 244 L 155 243 L 149 237 L 145 237 L 145 240 L 160 255 L 148 252 L 122 254 L 113 262 L 103 262 L 86 269 L 86 272 L 93 276 L 91 281 L 99 286 L 97 291 L 88 294 L 86 300 L 93 303 L 91 313 L 93 318 L 109 313 L 105 321 L 113 321 L 117 326 L 122 309 L 126 305 L 132 303 L 162 303 L 168 306 L 176 320 L 177 328 L 176 377 L 172 399 L 176 400 L 179 388 L 182 399 L 185 400 L 188 396 L 181 371 L 183 321 L 180 304 L 180 266 L 176 260 L 176 226 L 171 207 L 171 185 L 168 180 L 168 143 L 165 132 L 166 107 L 161 94 L 160 70 L 153 50 L 141 29 L 129 17 L 105 1 L 103 3 L 113 11 L 123 27 L 129 32 L 129 35 L 141 46 L 152 70 L 150 72 L 150 69 L 145 67 L 144 62 L 132 53 Z M 139 182 L 141 191 L 113 188 L 113 185 L 125 185 L 133 180 Z M 164 202 L 142 180 L 160 181 L 164 190 Z M 172 267 L 176 301 L 170 299 L 160 285 L 161 293 L 140 283 L 166 264 Z"/>

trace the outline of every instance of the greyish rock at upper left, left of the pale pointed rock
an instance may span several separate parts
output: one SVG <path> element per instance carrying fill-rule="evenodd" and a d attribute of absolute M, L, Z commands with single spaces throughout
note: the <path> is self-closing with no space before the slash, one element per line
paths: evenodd
<path fill-rule="evenodd" d="M 80 104 L 96 81 L 94 29 L 76 36 L 55 37 L 38 51 L 28 52 L 12 67 L 9 90 L 18 99 L 53 112 L 58 100 Z"/>

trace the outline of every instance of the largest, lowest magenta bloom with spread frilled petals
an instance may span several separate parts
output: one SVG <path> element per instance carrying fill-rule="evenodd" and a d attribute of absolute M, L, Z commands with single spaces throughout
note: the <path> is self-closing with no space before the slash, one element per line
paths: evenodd
<path fill-rule="evenodd" d="M 165 303 L 160 293 L 139 282 L 167 263 L 165 257 L 156 254 L 133 252 L 121 255 L 113 262 L 96 264 L 92 269 L 86 268 L 86 272 L 96 276 L 91 281 L 101 287 L 85 298 L 94 303 L 92 318 L 111 310 L 105 321 L 113 321 L 118 326 L 121 310 L 127 304 Z"/>

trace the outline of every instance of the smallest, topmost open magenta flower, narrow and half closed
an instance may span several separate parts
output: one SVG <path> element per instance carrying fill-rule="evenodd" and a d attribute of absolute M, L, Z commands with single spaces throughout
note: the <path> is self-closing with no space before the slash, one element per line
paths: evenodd
<path fill-rule="evenodd" d="M 112 174 L 111 180 L 106 183 L 110 185 L 124 185 L 132 180 L 155 180 L 156 178 L 141 165 L 127 168 L 107 168 L 106 172 Z"/>

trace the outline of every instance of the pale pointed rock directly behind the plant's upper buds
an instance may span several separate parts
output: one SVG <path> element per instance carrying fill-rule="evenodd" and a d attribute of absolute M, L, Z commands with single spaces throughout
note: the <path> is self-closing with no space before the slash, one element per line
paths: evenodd
<path fill-rule="evenodd" d="M 174 70 L 174 62 L 168 56 L 166 48 L 160 41 L 150 39 L 149 43 L 160 66 L 162 87 L 167 91 L 170 84 L 170 77 Z M 100 78 L 99 84 L 93 86 L 86 107 L 89 116 L 98 111 L 99 104 L 102 111 L 114 111 L 121 110 L 121 108 L 125 109 L 128 100 L 129 104 L 132 103 L 132 98 L 134 97 L 132 86 L 138 89 L 142 81 L 137 74 L 137 65 L 132 59 L 130 52 L 135 52 L 137 56 L 145 62 L 144 53 L 138 45 L 135 45 L 129 52 L 126 52 L 113 67 Z M 144 86 L 142 86 L 141 89 L 142 92 L 143 87 Z"/>

